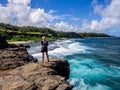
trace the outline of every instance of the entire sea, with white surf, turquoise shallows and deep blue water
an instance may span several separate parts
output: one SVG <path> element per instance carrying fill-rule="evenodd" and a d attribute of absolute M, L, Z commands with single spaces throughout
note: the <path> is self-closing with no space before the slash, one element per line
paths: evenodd
<path fill-rule="evenodd" d="M 28 51 L 41 59 L 40 42 Z M 68 60 L 73 90 L 120 90 L 120 38 L 57 40 L 49 43 L 49 55 Z"/>

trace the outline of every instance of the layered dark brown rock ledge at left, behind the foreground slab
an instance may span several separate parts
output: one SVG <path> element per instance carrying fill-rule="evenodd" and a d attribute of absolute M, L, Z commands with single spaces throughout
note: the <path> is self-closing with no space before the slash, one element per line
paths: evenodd
<path fill-rule="evenodd" d="M 9 45 L 0 49 L 0 70 L 13 69 L 30 61 L 37 61 L 28 54 L 26 47 Z"/>

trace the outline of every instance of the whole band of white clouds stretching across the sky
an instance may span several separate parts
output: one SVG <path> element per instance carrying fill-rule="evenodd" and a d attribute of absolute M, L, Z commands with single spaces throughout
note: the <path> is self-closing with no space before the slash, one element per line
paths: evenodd
<path fill-rule="evenodd" d="M 0 4 L 0 22 L 19 26 L 31 25 L 37 27 L 49 27 L 62 31 L 96 31 L 102 32 L 111 27 L 120 27 L 120 0 L 112 0 L 109 5 L 103 7 L 93 0 L 94 13 L 101 15 L 101 20 L 83 20 L 82 27 L 64 22 L 68 17 L 74 21 L 80 18 L 71 17 L 69 14 L 56 15 L 56 10 L 45 12 L 41 8 L 31 8 L 31 0 L 8 0 L 6 6 Z M 62 20 L 62 21 L 61 21 Z"/>

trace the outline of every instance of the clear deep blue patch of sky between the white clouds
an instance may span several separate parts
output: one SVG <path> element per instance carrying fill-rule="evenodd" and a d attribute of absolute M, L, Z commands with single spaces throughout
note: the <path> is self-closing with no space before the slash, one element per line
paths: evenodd
<path fill-rule="evenodd" d="M 69 15 L 64 21 L 72 24 L 80 25 L 80 19 L 100 19 L 99 15 L 93 14 L 92 0 L 32 0 L 31 7 L 44 8 L 46 12 L 52 9 L 56 15 Z M 76 20 L 71 22 L 70 18 Z"/>

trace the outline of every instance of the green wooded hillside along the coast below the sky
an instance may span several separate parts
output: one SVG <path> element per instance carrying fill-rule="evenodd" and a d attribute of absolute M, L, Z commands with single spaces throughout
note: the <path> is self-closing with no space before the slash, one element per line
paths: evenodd
<path fill-rule="evenodd" d="M 5 35 L 8 41 L 41 40 L 45 35 L 48 40 L 61 38 L 86 38 L 86 37 L 110 37 L 104 33 L 76 33 L 55 31 L 50 28 L 37 28 L 33 26 L 18 27 L 10 24 L 0 23 L 0 34 Z"/>

